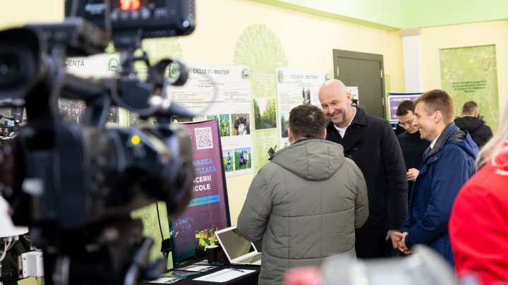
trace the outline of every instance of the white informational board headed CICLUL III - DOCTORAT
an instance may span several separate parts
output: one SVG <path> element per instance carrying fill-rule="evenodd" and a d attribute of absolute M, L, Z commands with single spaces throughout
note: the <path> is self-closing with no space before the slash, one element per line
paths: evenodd
<path fill-rule="evenodd" d="M 317 92 L 327 78 L 329 78 L 329 73 L 325 71 L 277 68 L 278 121 L 280 126 L 278 149 L 289 145 L 287 128 L 291 109 L 301 104 L 313 104 L 321 109 Z"/>

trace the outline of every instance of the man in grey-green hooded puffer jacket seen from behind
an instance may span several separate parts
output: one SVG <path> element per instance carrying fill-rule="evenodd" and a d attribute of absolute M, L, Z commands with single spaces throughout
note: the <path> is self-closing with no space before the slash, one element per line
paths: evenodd
<path fill-rule="evenodd" d="M 355 256 L 355 229 L 368 217 L 367 186 L 341 145 L 324 140 L 326 119 L 312 105 L 289 114 L 291 145 L 254 177 L 237 229 L 262 241 L 259 284 L 280 284 L 286 269 Z"/>

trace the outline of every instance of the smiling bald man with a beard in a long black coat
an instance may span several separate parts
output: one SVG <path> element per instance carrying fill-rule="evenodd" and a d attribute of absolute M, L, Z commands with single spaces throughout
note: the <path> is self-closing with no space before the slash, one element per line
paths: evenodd
<path fill-rule="evenodd" d="M 408 209 L 406 166 L 392 126 L 351 106 L 351 93 L 340 80 L 327 80 L 318 96 L 329 119 L 326 139 L 344 147 L 367 183 L 370 214 L 356 230 L 356 256 L 392 256 Z"/>

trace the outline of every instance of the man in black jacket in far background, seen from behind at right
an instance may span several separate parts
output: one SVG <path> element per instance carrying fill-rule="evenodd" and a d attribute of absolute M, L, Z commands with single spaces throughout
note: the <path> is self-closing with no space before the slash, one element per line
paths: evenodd
<path fill-rule="evenodd" d="M 478 104 L 469 101 L 464 104 L 461 111 L 462 118 L 455 119 L 455 124 L 462 130 L 467 131 L 471 138 L 476 142 L 478 148 L 492 138 L 492 130 L 489 126 L 478 119 Z"/>

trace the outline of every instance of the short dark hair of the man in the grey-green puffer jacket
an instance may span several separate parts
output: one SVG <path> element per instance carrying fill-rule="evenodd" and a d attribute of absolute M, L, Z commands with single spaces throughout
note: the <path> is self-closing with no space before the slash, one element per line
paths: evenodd
<path fill-rule="evenodd" d="M 321 109 L 310 104 L 294 107 L 289 112 L 289 129 L 293 138 L 322 138 L 327 119 Z"/>

